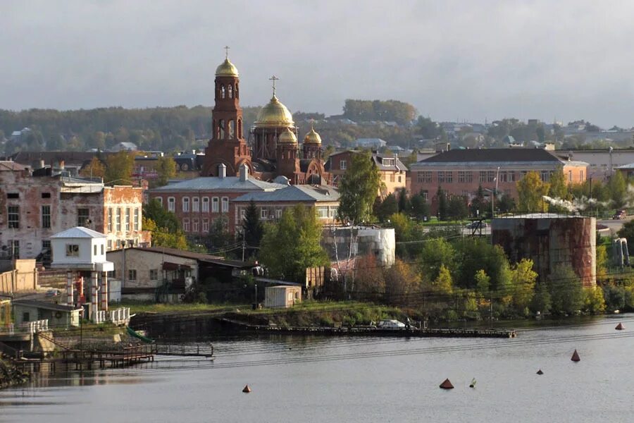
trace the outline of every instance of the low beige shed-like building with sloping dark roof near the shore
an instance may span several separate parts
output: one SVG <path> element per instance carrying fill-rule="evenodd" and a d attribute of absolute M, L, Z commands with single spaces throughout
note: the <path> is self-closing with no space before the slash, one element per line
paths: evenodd
<path fill-rule="evenodd" d="M 113 262 L 111 278 L 121 281 L 127 300 L 180 302 L 196 281 L 213 277 L 231 281 L 251 269 L 248 263 L 168 247 L 132 247 L 108 252 Z"/>

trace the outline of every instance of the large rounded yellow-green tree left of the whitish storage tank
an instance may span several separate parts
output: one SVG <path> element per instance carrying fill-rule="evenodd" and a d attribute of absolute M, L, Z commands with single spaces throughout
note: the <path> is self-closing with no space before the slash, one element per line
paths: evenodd
<path fill-rule="evenodd" d="M 307 268 L 328 264 L 320 242 L 321 224 L 315 209 L 298 204 L 285 209 L 277 223 L 265 227 L 260 259 L 271 276 L 302 282 Z"/>

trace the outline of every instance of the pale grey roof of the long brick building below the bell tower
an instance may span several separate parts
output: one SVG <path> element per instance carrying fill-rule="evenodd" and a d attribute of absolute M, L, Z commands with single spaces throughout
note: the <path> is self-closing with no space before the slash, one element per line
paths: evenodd
<path fill-rule="evenodd" d="M 263 180 L 254 179 L 251 176 L 247 180 L 240 180 L 238 176 L 201 176 L 200 178 L 182 180 L 176 183 L 154 188 L 149 192 L 182 192 L 192 190 L 215 190 L 215 191 L 261 191 L 261 190 L 279 190 L 286 185 L 279 183 L 264 182 Z"/>

